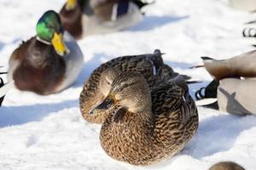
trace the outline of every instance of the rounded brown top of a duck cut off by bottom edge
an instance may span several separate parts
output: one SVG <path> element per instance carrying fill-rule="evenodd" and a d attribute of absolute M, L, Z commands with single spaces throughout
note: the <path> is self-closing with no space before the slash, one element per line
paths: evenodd
<path fill-rule="evenodd" d="M 209 170 L 245 170 L 245 169 L 233 161 L 222 161 L 210 167 Z"/>

